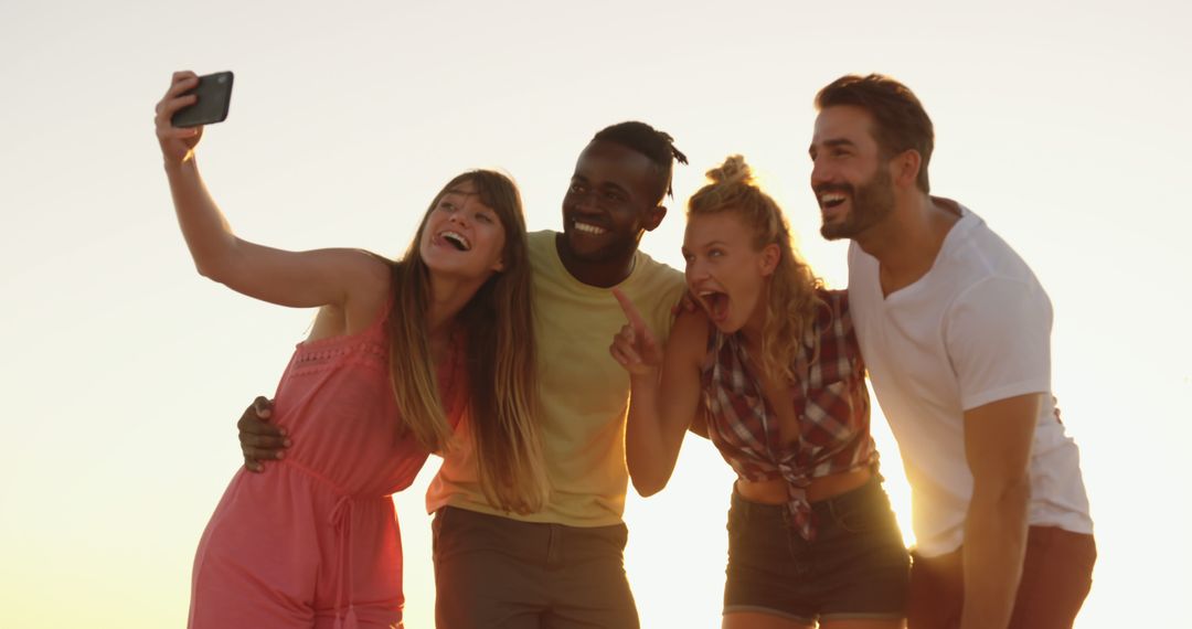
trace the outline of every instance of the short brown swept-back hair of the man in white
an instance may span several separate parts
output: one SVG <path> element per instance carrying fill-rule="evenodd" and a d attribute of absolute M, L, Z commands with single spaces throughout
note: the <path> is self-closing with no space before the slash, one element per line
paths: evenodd
<path fill-rule="evenodd" d="M 923 104 L 909 87 L 881 74 L 849 74 L 832 81 L 815 94 L 815 108 L 837 105 L 861 107 L 874 117 L 874 139 L 886 157 L 906 150 L 919 151 L 919 189 L 931 192 L 927 163 L 936 147 L 936 131 Z"/>

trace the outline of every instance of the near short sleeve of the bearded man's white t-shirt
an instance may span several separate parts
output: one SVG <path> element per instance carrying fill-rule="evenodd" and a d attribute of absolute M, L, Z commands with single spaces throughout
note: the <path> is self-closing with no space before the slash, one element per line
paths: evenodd
<path fill-rule="evenodd" d="M 966 411 L 1051 390 L 1051 303 L 1037 284 L 985 279 L 956 299 L 944 325 Z"/>

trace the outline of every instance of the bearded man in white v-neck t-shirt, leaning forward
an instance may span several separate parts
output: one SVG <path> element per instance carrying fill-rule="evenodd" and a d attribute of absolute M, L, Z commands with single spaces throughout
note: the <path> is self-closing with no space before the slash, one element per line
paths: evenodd
<path fill-rule="evenodd" d="M 815 106 L 820 231 L 852 239 L 850 310 L 912 488 L 909 628 L 1072 627 L 1097 549 L 1050 300 L 980 217 L 929 194 L 932 124 L 906 86 L 844 76 Z"/>

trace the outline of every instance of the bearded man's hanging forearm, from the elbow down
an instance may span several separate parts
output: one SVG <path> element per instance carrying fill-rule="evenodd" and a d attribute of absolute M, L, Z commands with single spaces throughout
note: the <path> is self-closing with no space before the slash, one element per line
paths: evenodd
<path fill-rule="evenodd" d="M 1026 553 L 1030 482 L 976 488 L 964 523 L 961 629 L 1005 629 Z"/>

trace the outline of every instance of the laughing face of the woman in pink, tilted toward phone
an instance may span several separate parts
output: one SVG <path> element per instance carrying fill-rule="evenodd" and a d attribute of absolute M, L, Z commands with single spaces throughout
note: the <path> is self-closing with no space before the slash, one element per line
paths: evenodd
<path fill-rule="evenodd" d="M 474 182 L 449 186 L 427 214 L 418 250 L 433 273 L 488 278 L 504 268 L 505 228 Z"/>

